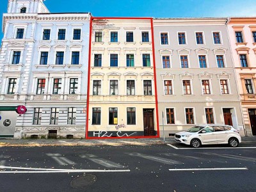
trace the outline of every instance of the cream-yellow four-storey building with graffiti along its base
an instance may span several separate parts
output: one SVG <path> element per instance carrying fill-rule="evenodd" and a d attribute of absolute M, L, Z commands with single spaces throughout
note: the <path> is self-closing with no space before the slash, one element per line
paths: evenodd
<path fill-rule="evenodd" d="M 87 137 L 157 135 L 151 22 L 92 18 Z"/>

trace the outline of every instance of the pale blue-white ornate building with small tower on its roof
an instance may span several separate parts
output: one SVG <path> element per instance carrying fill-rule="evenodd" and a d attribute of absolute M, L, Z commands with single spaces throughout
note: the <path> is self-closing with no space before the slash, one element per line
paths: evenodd
<path fill-rule="evenodd" d="M 42 0 L 9 1 L 0 58 L 0 115 L 9 125 L 0 135 L 85 137 L 89 22 L 90 13 L 50 13 Z M 19 105 L 24 115 L 13 111 Z"/>

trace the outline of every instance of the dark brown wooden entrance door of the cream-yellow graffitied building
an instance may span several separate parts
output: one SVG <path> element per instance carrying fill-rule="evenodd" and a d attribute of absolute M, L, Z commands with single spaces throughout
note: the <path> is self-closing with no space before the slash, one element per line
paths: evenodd
<path fill-rule="evenodd" d="M 154 136 L 154 109 L 143 109 L 144 136 Z"/>

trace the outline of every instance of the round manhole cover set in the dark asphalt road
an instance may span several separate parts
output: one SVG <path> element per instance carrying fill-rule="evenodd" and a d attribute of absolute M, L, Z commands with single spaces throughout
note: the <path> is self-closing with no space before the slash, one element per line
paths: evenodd
<path fill-rule="evenodd" d="M 88 186 L 93 183 L 95 183 L 97 180 L 97 177 L 95 175 L 83 175 L 80 177 L 77 177 L 76 179 L 72 180 L 70 182 L 70 186 L 72 188 L 81 188 L 83 186 Z"/>

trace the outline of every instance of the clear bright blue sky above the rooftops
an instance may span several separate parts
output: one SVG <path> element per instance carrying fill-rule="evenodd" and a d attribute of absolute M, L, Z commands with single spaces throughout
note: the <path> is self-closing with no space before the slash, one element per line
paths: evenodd
<path fill-rule="evenodd" d="M 0 0 L 1 27 L 7 3 L 8 0 Z M 255 0 L 46 0 L 44 3 L 52 13 L 91 12 L 95 17 L 256 17 Z"/>

